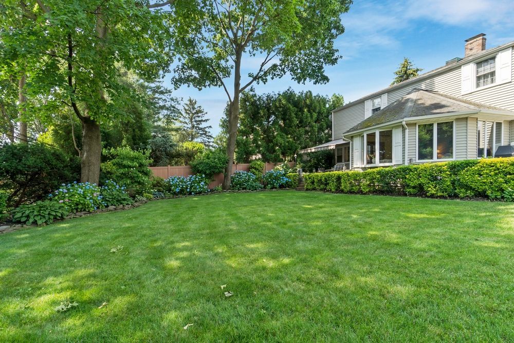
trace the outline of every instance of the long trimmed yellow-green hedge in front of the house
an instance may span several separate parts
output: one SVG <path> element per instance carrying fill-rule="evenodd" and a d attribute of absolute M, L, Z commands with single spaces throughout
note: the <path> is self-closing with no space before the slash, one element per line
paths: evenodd
<path fill-rule="evenodd" d="M 514 201 L 514 157 L 304 174 L 305 189 Z"/>

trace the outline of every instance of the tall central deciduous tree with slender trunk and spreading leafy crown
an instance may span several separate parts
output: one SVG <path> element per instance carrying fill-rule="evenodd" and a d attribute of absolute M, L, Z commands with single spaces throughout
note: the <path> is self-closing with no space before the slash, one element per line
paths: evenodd
<path fill-rule="evenodd" d="M 228 164 L 223 182 L 230 188 L 239 100 L 253 83 L 289 74 L 293 80 L 324 83 L 325 65 L 338 61 L 334 40 L 343 33 L 340 15 L 351 0 L 191 0 L 177 2 L 176 84 L 222 86 L 229 100 Z M 243 79 L 244 68 L 255 70 Z M 229 80 L 230 79 L 230 80 Z M 230 83 L 229 83 L 230 82 Z"/>

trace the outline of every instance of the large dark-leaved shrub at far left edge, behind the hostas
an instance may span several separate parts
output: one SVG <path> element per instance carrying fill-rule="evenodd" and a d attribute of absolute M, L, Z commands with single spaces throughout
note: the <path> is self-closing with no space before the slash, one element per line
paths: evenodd
<path fill-rule="evenodd" d="M 7 207 L 40 200 L 63 182 L 79 177 L 77 157 L 41 143 L 8 144 L 0 148 L 0 188 Z"/>

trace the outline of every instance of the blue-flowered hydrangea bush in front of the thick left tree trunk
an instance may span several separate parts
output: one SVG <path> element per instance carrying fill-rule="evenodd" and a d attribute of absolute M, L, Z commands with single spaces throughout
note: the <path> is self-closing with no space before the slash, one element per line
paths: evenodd
<path fill-rule="evenodd" d="M 107 204 L 102 200 L 101 189 L 95 184 L 62 184 L 61 188 L 48 194 L 49 200 L 64 204 L 70 212 L 94 211 Z"/>

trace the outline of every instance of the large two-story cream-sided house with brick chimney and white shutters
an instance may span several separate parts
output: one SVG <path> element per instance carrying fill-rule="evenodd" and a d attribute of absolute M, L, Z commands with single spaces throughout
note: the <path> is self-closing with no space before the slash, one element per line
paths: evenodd
<path fill-rule="evenodd" d="M 486 50 L 466 40 L 464 58 L 332 112 L 333 149 L 347 169 L 491 157 L 514 144 L 514 42 Z"/>

